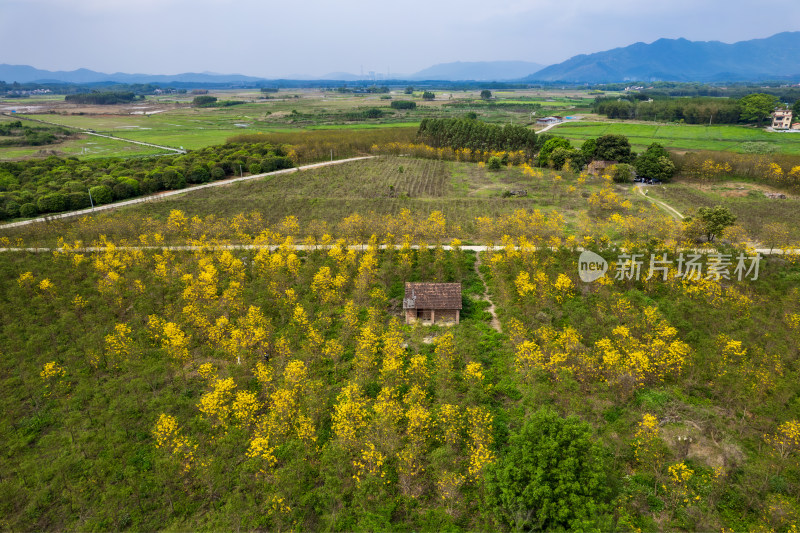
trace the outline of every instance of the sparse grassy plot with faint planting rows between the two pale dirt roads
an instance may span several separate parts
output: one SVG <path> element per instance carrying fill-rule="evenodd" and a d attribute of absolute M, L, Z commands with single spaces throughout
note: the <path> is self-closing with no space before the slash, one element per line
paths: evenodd
<path fill-rule="evenodd" d="M 189 217 L 201 218 L 246 214 L 270 225 L 295 216 L 304 227 L 315 220 L 335 226 L 353 213 L 392 217 L 408 209 L 419 222 L 430 213 L 441 211 L 453 228 L 454 234 L 450 236 L 471 238 L 477 232 L 477 217 L 500 217 L 519 209 L 538 209 L 545 213 L 557 211 L 565 220 L 561 230 L 575 233 L 579 219 L 587 211 L 586 198 L 600 188 L 600 183 L 594 179 L 579 185 L 578 177 L 569 174 L 554 181 L 556 175 L 560 174 L 544 171 L 541 177 L 532 177 L 516 167 L 490 172 L 474 163 L 380 157 L 214 187 L 165 200 L 156 198 L 153 202 L 98 215 L 89 233 L 83 233 L 85 228 L 74 219 L 51 224 L 59 226 L 62 234 L 87 241 L 109 231 L 117 238 L 136 239 L 142 221 L 149 217 L 165 220 L 175 209 Z M 570 186 L 575 188 L 570 191 Z M 512 190 L 525 190 L 527 196 L 503 196 Z M 626 187 L 618 186 L 616 190 L 633 202 L 634 210 L 649 205 Z M 119 224 L 121 219 L 130 223 Z M 53 229 L 45 231 L 40 225 L 33 225 L 7 234 L 22 236 L 25 242 L 33 243 L 52 232 Z M 228 229 L 227 237 L 233 236 Z"/>

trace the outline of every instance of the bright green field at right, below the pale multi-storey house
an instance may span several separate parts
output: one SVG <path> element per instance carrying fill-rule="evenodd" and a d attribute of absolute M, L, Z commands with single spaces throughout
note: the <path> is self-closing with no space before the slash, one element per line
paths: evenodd
<path fill-rule="evenodd" d="M 657 142 L 672 150 L 744 152 L 748 145 L 743 143 L 765 143 L 775 153 L 800 154 L 800 135 L 745 126 L 573 122 L 556 126 L 549 133 L 579 142 L 607 134 L 625 135 L 636 150 Z"/>

